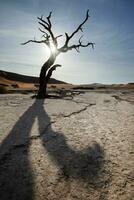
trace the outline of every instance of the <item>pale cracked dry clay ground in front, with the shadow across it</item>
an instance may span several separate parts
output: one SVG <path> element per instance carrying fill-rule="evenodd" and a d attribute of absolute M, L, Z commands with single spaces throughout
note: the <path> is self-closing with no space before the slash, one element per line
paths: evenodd
<path fill-rule="evenodd" d="M 134 93 L 0 96 L 0 200 L 134 199 Z"/>

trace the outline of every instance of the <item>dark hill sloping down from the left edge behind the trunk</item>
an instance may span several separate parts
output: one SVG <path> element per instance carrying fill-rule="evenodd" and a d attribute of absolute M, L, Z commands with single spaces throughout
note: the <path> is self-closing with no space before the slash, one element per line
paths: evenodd
<path fill-rule="evenodd" d="M 13 73 L 13 72 L 7 72 L 7 71 L 0 70 L 0 82 L 3 82 L 3 80 L 6 83 L 10 83 L 10 81 L 22 82 L 22 83 L 34 83 L 34 84 L 39 83 L 38 77 L 26 76 L 26 75 L 22 75 L 22 74 L 17 74 L 17 73 Z M 54 78 L 51 78 L 49 83 L 50 84 L 66 84 L 63 81 L 59 81 Z"/>

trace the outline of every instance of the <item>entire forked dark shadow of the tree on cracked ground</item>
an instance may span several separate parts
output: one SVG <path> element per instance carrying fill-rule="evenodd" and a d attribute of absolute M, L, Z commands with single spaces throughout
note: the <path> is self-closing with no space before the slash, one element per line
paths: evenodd
<path fill-rule="evenodd" d="M 71 148 L 64 134 L 52 130 L 50 117 L 44 110 L 44 101 L 37 99 L 0 146 L 0 199 L 34 199 L 29 147 L 35 118 L 38 119 L 38 137 L 44 150 L 59 168 L 64 180 L 77 179 L 92 187 L 102 187 L 99 177 L 104 168 L 103 148 L 97 142 L 82 151 Z"/>

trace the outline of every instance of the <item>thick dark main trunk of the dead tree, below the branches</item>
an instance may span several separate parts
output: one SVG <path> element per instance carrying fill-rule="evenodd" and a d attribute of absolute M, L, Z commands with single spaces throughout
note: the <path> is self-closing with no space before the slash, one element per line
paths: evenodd
<path fill-rule="evenodd" d="M 50 79 L 50 77 L 47 77 L 47 73 L 49 72 L 51 66 L 54 64 L 55 60 L 56 55 L 51 54 L 49 59 L 44 63 L 44 65 L 41 68 L 39 77 L 39 90 L 37 95 L 37 98 L 39 99 L 45 99 L 46 97 L 47 83 Z"/>

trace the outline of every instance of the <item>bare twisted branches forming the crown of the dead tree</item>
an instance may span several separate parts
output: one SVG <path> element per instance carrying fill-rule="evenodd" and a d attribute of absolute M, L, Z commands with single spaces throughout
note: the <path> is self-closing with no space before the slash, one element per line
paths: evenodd
<path fill-rule="evenodd" d="M 30 42 L 45 43 L 50 48 L 50 43 L 53 43 L 53 45 L 55 46 L 55 49 L 57 50 L 57 55 L 59 53 L 65 53 L 65 52 L 67 52 L 69 50 L 73 50 L 73 49 L 75 49 L 77 52 L 79 52 L 80 47 L 91 46 L 92 48 L 94 48 L 95 43 L 93 43 L 93 42 L 88 42 L 87 44 L 82 43 L 81 39 L 82 39 L 83 36 L 81 36 L 79 38 L 77 44 L 73 44 L 73 45 L 69 46 L 70 40 L 79 31 L 83 32 L 83 25 L 89 19 L 89 10 L 87 10 L 86 17 L 83 20 L 83 22 L 74 30 L 74 32 L 72 32 L 71 35 L 69 35 L 68 33 L 65 33 L 65 43 L 59 49 L 58 49 L 58 38 L 61 37 L 62 35 L 58 35 L 58 36 L 54 35 L 54 33 L 52 31 L 51 16 L 52 16 L 52 12 L 49 13 L 48 17 L 46 17 L 46 20 L 43 19 L 43 15 L 41 17 L 37 17 L 37 19 L 39 20 L 38 23 L 42 26 L 42 29 L 39 28 L 39 30 L 40 30 L 41 33 L 43 33 L 42 37 L 44 38 L 44 40 L 35 40 L 35 39 L 34 40 L 28 40 L 27 42 L 24 42 L 22 44 L 25 45 L 25 44 L 30 43 Z"/>

